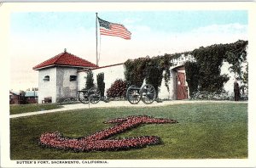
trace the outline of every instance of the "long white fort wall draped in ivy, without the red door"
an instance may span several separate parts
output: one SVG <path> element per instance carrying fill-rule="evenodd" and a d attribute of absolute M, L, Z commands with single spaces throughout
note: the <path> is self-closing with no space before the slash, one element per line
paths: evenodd
<path fill-rule="evenodd" d="M 218 95 L 225 93 L 227 85 L 233 87 L 234 79 L 240 81 L 241 90 L 247 92 L 247 45 L 247 41 L 214 44 L 190 52 L 128 59 L 124 64 L 92 71 L 94 78 L 97 74 L 104 73 L 105 93 L 117 79 L 137 87 L 141 87 L 146 81 L 160 92 L 159 98 L 175 99 L 173 92 L 177 92 L 177 83 L 175 70 L 172 69 L 180 65 L 185 66 L 190 98 L 198 95 L 198 92 L 205 95 L 209 92 Z M 84 87 L 84 76 L 87 76 L 85 71 L 79 72 L 79 89 Z"/>

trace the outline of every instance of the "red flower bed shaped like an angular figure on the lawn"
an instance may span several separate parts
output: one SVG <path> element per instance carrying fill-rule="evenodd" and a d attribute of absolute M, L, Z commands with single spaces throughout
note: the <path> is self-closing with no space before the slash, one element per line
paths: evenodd
<path fill-rule="evenodd" d="M 153 118 L 147 115 L 129 116 L 108 120 L 104 123 L 118 123 L 88 137 L 68 138 L 59 132 L 47 132 L 41 135 L 39 144 L 45 148 L 72 149 L 75 152 L 124 150 L 129 148 L 143 148 L 147 145 L 160 143 L 160 137 L 143 136 L 124 139 L 107 139 L 115 134 L 125 132 L 142 124 L 177 123 L 177 120 Z"/>

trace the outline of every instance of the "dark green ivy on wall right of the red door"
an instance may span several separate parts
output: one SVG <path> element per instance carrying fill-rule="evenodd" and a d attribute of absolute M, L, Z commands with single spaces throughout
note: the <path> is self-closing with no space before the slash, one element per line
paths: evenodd
<path fill-rule="evenodd" d="M 196 76 L 196 80 L 198 80 L 197 88 L 200 91 L 221 92 L 224 83 L 229 81 L 227 74 L 220 75 L 223 61 L 232 64 L 230 69 L 241 78 L 241 62 L 245 61 L 247 57 L 247 43 L 247 41 L 240 40 L 234 43 L 214 44 L 207 48 L 195 49 L 192 55 L 194 55 L 196 63 L 186 64 L 185 66 L 187 81 L 189 86 L 192 86 L 192 91 L 196 91 L 197 81 L 193 81 Z M 192 70 L 195 67 L 199 67 L 199 70 Z"/>

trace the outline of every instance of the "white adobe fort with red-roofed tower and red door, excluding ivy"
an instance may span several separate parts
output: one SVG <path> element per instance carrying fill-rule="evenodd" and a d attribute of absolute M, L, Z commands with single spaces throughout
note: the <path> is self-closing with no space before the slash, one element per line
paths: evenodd
<path fill-rule="evenodd" d="M 247 45 L 243 49 L 247 51 Z M 242 54 L 241 57 L 243 57 Z M 170 80 L 162 80 L 158 95 L 160 99 L 183 100 L 189 98 L 189 87 L 184 68 L 186 62 L 196 62 L 195 56 L 187 52 L 176 53 L 176 56 L 172 57 Z M 247 59 L 240 64 L 241 72 L 246 72 Z M 220 74 L 229 76 L 229 81 L 226 81 L 223 87 L 229 96 L 232 96 L 234 92 L 233 82 L 236 80 L 236 74 L 230 69 L 232 65 L 227 60 L 223 60 L 220 67 Z M 125 80 L 125 65 L 123 63 L 98 67 L 72 53 L 67 53 L 66 50 L 64 53 L 33 67 L 33 70 L 38 70 L 38 104 L 42 104 L 42 100 L 44 102 L 45 98 L 51 98 L 52 103 L 60 102 L 61 98 L 77 98 L 78 91 L 85 87 L 88 70 L 92 71 L 95 83 L 96 76 L 104 73 L 105 95 L 114 81 Z"/>

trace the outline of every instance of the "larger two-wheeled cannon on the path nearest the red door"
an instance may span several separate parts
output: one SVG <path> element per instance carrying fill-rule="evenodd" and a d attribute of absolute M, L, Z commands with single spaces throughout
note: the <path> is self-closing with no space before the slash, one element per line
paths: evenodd
<path fill-rule="evenodd" d="M 131 85 L 126 92 L 126 98 L 131 104 L 138 104 L 141 100 L 143 100 L 144 104 L 152 104 L 155 97 L 155 89 L 150 84 L 143 85 L 142 87 Z"/>

